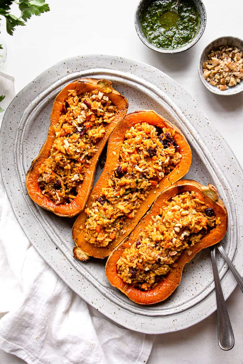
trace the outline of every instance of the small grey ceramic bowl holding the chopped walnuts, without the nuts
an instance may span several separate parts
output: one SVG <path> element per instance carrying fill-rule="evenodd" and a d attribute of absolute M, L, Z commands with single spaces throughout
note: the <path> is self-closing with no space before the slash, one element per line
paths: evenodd
<path fill-rule="evenodd" d="M 201 52 L 201 54 L 199 56 L 198 65 L 197 65 L 199 77 L 201 79 L 201 82 L 204 84 L 204 86 L 207 87 L 207 89 L 209 91 L 213 92 L 213 94 L 223 95 L 223 96 L 238 94 L 239 92 L 243 91 L 243 80 L 241 80 L 240 83 L 237 83 L 235 86 L 228 87 L 227 90 L 225 90 L 225 91 L 220 91 L 219 88 L 212 86 L 203 77 L 203 63 L 207 59 L 207 56 L 210 54 L 211 50 L 212 49 L 215 50 L 216 48 L 219 48 L 220 46 L 237 47 L 242 51 L 243 50 L 243 40 L 236 38 L 236 37 L 228 36 L 228 37 L 217 38 L 217 39 L 213 40 L 211 43 L 209 43 L 207 45 L 207 47 L 204 48 L 204 50 Z"/>

